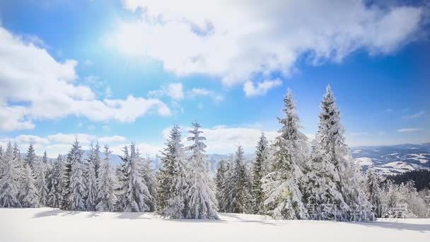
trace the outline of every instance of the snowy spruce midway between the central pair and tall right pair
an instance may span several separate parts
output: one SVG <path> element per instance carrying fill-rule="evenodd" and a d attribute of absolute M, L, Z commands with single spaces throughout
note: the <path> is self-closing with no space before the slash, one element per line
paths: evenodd
<path fill-rule="evenodd" d="M 251 184 L 242 146 L 238 146 L 238 150 L 236 151 L 231 180 L 229 182 L 232 183 L 231 190 L 228 191 L 230 193 L 228 197 L 231 200 L 229 212 L 238 214 L 252 212 Z"/>

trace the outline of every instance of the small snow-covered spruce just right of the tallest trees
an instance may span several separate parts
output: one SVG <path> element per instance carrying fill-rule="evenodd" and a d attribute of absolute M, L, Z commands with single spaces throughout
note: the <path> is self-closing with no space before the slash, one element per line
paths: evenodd
<path fill-rule="evenodd" d="M 382 189 L 380 178 L 373 171 L 373 165 L 368 167 L 366 172 L 366 195 L 368 201 L 372 204 L 373 213 L 376 217 L 382 217 Z"/>

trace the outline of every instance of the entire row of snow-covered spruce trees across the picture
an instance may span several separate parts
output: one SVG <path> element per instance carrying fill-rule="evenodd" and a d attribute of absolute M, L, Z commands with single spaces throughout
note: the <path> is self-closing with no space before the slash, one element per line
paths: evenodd
<path fill-rule="evenodd" d="M 182 144 L 180 127 L 172 127 L 158 171 L 134 144 L 124 146 L 122 162 L 114 166 L 107 145 L 102 150 L 91 144 L 84 157 L 76 139 L 68 154 L 52 161 L 46 152 L 36 156 L 33 144 L 21 159 L 18 146 L 8 142 L 5 150 L 0 146 L 0 207 L 156 212 L 170 219 L 219 219 L 216 211 L 336 221 L 429 216 L 430 192 L 418 192 L 417 184 L 407 181 L 413 175 L 396 184 L 372 167 L 361 173 L 345 143 L 330 86 L 320 108 L 318 132 L 308 142 L 289 90 L 277 137 L 269 142 L 262 133 L 250 166 L 238 146 L 234 156 L 219 161 L 214 180 L 197 122 L 188 131 L 190 146 Z"/>

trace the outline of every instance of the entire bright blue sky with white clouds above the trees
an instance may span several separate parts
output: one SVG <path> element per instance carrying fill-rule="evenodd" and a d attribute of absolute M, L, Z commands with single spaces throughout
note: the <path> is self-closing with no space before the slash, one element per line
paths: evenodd
<path fill-rule="evenodd" d="M 154 154 L 168 127 L 199 120 L 209 152 L 252 152 L 261 131 L 276 135 L 287 88 L 311 138 L 327 84 L 351 146 L 430 142 L 428 13 L 397 1 L 0 1 L 0 142 L 54 157 L 77 136 Z"/>

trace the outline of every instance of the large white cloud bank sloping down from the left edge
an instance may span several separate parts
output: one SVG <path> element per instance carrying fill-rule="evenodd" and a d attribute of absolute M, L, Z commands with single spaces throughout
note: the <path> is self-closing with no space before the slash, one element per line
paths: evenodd
<path fill-rule="evenodd" d="M 0 130 L 33 129 L 33 120 L 69 115 L 94 121 L 133 122 L 155 110 L 170 115 L 158 99 L 128 96 L 98 100 L 89 86 L 74 83 L 75 60 L 57 62 L 45 49 L 0 26 Z M 86 81 L 98 81 L 88 76 Z M 16 104 L 19 103 L 19 104 Z"/>

